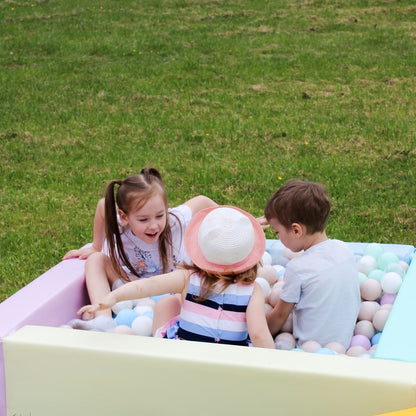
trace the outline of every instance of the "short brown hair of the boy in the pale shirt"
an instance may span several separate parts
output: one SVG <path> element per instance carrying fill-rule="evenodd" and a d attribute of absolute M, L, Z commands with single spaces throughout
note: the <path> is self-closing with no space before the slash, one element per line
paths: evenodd
<path fill-rule="evenodd" d="M 280 187 L 267 201 L 264 215 L 276 218 L 284 227 L 306 226 L 308 234 L 322 232 L 328 223 L 331 202 L 323 185 L 294 179 Z"/>

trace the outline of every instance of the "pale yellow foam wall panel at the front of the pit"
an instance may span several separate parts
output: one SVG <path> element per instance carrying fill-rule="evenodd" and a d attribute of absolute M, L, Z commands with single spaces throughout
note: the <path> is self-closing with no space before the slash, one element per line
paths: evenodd
<path fill-rule="evenodd" d="M 373 416 L 416 406 L 415 363 L 25 326 L 8 415 Z"/>

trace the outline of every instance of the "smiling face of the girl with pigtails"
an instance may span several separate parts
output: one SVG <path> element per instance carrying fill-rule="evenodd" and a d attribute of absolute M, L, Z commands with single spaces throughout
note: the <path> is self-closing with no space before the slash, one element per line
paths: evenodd
<path fill-rule="evenodd" d="M 129 225 L 132 233 L 146 244 L 154 244 L 166 227 L 166 206 L 157 193 L 139 209 L 128 214 L 119 210 L 123 226 Z"/>

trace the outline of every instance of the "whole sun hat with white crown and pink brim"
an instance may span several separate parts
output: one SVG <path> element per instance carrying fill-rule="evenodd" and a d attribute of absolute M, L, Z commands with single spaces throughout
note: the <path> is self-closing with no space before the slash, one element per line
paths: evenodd
<path fill-rule="evenodd" d="M 252 268 L 266 249 L 266 238 L 256 219 L 225 205 L 199 211 L 186 228 L 184 241 L 196 266 L 220 274 Z"/>

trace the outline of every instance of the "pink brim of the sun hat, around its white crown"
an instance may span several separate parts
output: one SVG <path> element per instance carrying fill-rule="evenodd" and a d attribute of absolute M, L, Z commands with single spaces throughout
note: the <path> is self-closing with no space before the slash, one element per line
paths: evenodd
<path fill-rule="evenodd" d="M 233 208 L 241 212 L 251 221 L 251 224 L 253 225 L 253 229 L 254 229 L 254 245 L 253 245 L 253 249 L 251 250 L 251 252 L 248 254 L 248 256 L 244 260 L 235 264 L 228 264 L 228 265 L 215 264 L 215 263 L 211 263 L 210 261 L 208 261 L 203 255 L 201 248 L 199 246 L 199 242 L 198 242 L 198 231 L 204 218 L 214 209 L 224 208 L 224 207 Z M 191 221 L 189 222 L 189 225 L 186 227 L 184 243 L 185 243 L 186 253 L 188 254 L 191 261 L 194 263 L 194 265 L 210 273 L 219 273 L 219 274 L 242 273 L 248 269 L 251 269 L 261 260 L 266 250 L 266 237 L 264 235 L 263 228 L 257 222 L 257 220 L 251 214 L 247 213 L 246 211 L 243 211 L 242 209 L 237 208 L 237 207 L 232 207 L 232 206 L 227 206 L 227 205 L 222 205 L 222 206 L 213 207 L 213 208 L 206 208 L 206 209 L 199 211 L 197 214 L 195 214 L 192 217 Z"/>

